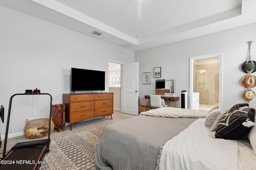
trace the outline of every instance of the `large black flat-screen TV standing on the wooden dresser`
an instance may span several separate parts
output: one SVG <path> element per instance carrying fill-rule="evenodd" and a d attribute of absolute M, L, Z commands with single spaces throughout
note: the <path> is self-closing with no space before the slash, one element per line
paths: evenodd
<path fill-rule="evenodd" d="M 71 91 L 105 90 L 105 72 L 71 68 Z"/>

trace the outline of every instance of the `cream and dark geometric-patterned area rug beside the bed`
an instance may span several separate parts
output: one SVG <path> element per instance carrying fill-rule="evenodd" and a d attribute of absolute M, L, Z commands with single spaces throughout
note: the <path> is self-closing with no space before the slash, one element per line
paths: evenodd
<path fill-rule="evenodd" d="M 40 170 L 95 170 L 95 148 L 107 125 L 54 139 Z"/>

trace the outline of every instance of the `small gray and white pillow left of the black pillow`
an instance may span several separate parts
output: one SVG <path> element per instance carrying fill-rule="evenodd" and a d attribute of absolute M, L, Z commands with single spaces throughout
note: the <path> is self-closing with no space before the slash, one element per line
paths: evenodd
<path fill-rule="evenodd" d="M 223 118 L 223 115 L 218 110 L 219 106 L 214 107 L 211 109 L 205 119 L 205 127 L 208 131 L 215 131 L 217 128 L 217 124 L 219 123 L 220 119 Z"/>

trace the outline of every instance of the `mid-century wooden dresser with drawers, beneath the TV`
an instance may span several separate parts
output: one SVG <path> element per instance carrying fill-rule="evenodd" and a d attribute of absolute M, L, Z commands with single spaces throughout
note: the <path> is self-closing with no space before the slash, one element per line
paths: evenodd
<path fill-rule="evenodd" d="M 66 105 L 66 121 L 74 123 L 94 117 L 111 116 L 113 114 L 113 93 L 76 93 L 63 94 Z"/>

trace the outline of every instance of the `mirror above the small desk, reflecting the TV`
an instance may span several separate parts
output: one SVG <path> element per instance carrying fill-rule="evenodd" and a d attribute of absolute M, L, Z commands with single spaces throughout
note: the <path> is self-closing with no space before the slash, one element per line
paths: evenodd
<path fill-rule="evenodd" d="M 174 96 L 174 79 L 155 80 L 154 94 Z"/>

